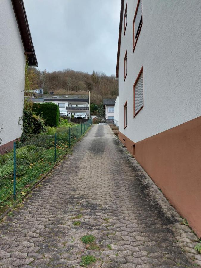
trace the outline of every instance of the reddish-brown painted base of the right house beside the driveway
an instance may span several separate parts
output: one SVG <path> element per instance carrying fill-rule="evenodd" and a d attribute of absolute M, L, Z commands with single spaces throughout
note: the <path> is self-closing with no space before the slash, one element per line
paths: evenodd
<path fill-rule="evenodd" d="M 201 116 L 137 143 L 119 139 L 201 236 Z"/>

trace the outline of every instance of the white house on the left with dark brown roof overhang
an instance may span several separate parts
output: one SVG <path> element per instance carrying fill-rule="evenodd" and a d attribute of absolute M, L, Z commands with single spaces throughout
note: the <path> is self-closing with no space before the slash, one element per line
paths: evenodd
<path fill-rule="evenodd" d="M 37 66 L 37 60 L 23 1 L 1 0 L 0 6 L 0 153 L 4 153 L 22 133 L 26 55 L 29 66 Z"/>

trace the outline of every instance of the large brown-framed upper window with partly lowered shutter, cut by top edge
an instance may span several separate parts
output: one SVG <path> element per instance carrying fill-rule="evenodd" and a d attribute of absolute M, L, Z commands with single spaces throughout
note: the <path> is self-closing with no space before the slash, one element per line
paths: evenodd
<path fill-rule="evenodd" d="M 138 0 L 133 20 L 133 51 L 135 49 L 135 45 L 137 43 L 141 27 L 142 27 L 142 0 Z"/>

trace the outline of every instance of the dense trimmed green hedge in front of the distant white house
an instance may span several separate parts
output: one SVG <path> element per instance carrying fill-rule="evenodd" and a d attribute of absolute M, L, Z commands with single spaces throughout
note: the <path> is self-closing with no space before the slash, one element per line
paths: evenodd
<path fill-rule="evenodd" d="M 46 125 L 56 127 L 59 124 L 59 106 L 52 102 L 34 103 L 33 111 L 45 120 Z"/>

